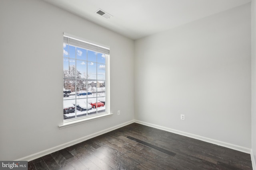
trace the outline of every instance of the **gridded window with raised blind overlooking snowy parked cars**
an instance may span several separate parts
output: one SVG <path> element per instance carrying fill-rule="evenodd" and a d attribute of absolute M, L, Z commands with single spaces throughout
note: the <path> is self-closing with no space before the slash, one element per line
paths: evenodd
<path fill-rule="evenodd" d="M 64 121 L 108 112 L 109 48 L 64 33 Z"/>

